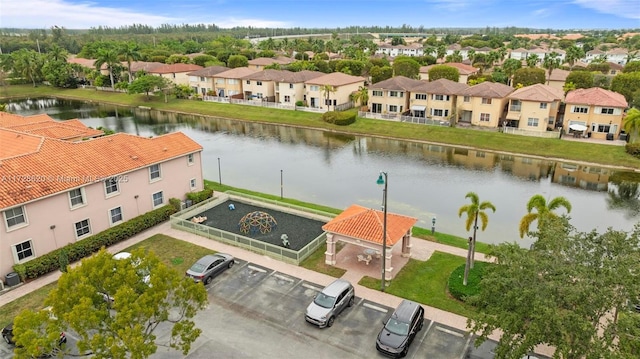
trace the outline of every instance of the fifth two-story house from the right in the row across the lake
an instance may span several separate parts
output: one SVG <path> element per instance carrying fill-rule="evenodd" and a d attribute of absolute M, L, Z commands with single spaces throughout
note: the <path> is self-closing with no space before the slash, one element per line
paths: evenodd
<path fill-rule="evenodd" d="M 424 82 L 405 76 L 394 76 L 368 87 L 372 113 L 401 115 L 409 109 L 410 90 Z M 420 111 L 421 110 L 421 111 Z M 413 116 L 424 117 L 424 108 L 411 109 Z"/>

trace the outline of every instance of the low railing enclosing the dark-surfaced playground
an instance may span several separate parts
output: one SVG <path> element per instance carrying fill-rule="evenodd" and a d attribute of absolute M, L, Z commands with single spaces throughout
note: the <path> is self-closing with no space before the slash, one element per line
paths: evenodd
<path fill-rule="evenodd" d="M 261 197 L 246 195 L 243 193 L 228 191 L 223 195 L 212 197 L 205 201 L 202 201 L 194 206 L 186 208 L 171 216 L 171 227 L 185 232 L 190 232 L 209 238 L 221 243 L 226 243 L 232 246 L 244 248 L 255 253 L 264 254 L 281 260 L 283 262 L 299 265 L 313 252 L 315 252 L 320 246 L 327 241 L 327 234 L 323 232 L 320 236 L 314 238 L 306 246 L 298 251 L 285 248 L 282 246 L 266 243 L 257 239 L 245 237 L 239 234 L 223 231 L 218 228 L 209 227 L 203 224 L 194 223 L 190 220 L 193 216 L 200 214 L 210 208 L 218 206 L 227 200 L 232 199 L 237 202 L 243 202 L 260 207 L 273 208 L 282 211 L 282 208 L 286 208 L 290 214 L 296 216 L 306 217 L 319 221 L 328 221 L 335 217 L 335 214 L 327 213 L 323 211 L 313 210 L 306 207 L 297 206 L 294 204 L 279 202 L 276 200 L 264 199 Z"/>

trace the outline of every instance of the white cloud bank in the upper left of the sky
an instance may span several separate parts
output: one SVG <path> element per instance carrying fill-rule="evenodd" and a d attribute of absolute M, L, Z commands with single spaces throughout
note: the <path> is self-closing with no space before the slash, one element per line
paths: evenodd
<path fill-rule="evenodd" d="M 3 1 L 2 27 L 44 29 L 57 25 L 67 29 L 120 27 L 132 24 L 159 26 L 180 19 L 145 14 L 125 8 L 98 6 L 95 3 L 71 3 L 65 0 Z"/>

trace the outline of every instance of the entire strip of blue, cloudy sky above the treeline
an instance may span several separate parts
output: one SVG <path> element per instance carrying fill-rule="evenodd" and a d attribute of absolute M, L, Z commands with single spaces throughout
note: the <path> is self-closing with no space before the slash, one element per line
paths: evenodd
<path fill-rule="evenodd" d="M 0 27 L 640 28 L 638 0 L 2 0 Z"/>

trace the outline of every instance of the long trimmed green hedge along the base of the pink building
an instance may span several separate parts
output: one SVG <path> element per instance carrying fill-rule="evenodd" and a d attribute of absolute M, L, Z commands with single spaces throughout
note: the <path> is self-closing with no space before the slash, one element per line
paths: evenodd
<path fill-rule="evenodd" d="M 47 273 L 60 269 L 60 253 L 65 252 L 69 263 L 78 261 L 96 253 L 102 247 L 108 247 L 114 243 L 122 242 L 134 235 L 162 223 L 176 212 L 171 205 L 157 208 L 127 222 L 104 230 L 91 237 L 75 243 L 67 244 L 47 254 L 34 258 L 26 263 L 16 264 L 13 269 L 21 274 L 21 279 L 34 279 Z"/>

